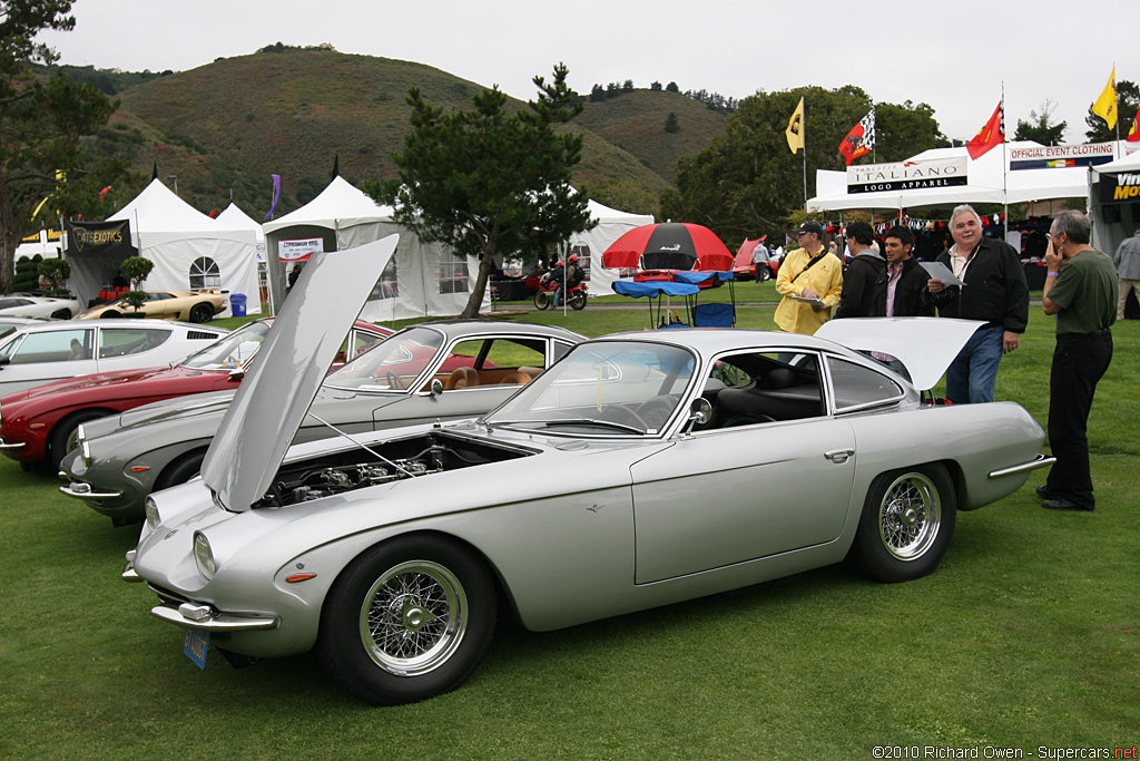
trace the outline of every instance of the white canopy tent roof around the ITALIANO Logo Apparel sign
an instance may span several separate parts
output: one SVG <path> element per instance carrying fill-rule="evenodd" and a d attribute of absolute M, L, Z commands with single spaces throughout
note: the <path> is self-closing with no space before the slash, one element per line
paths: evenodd
<path fill-rule="evenodd" d="M 954 207 L 960 203 L 1025 203 L 1050 199 L 1081 199 L 1089 193 L 1086 167 L 1017 169 L 1008 171 L 1010 153 L 1016 148 L 1044 147 L 1037 143 L 1008 143 L 970 160 L 966 147 L 931 148 L 906 161 L 962 159 L 967 161 L 966 185 L 952 187 L 848 193 L 847 173 L 816 170 L 816 196 L 807 202 L 808 211 L 850 209 L 913 209 Z M 1003 178 L 1002 175 L 1005 173 Z"/>

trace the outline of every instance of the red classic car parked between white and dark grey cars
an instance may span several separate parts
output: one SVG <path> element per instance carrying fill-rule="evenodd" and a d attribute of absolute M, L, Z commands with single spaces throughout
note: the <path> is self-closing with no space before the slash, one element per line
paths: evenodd
<path fill-rule="evenodd" d="M 0 452 L 25 470 L 43 461 L 58 468 L 85 421 L 176 396 L 236 389 L 271 323 L 247 323 L 170 366 L 81 375 L 9 394 L 0 398 Z M 358 319 L 344 355 L 352 358 L 391 333 Z"/>

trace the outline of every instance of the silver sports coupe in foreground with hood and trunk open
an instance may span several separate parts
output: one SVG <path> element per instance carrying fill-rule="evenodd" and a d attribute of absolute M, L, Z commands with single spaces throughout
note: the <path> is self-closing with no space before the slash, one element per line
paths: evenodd
<path fill-rule="evenodd" d="M 147 501 L 123 576 L 203 667 L 210 643 L 231 662 L 316 648 L 367 702 L 429 698 L 472 673 L 499 610 L 544 631 L 844 559 L 922 576 L 959 511 L 1049 461 L 1017 404 L 931 404 L 836 342 L 743 330 L 594 339 L 484 418 L 288 448 L 367 249 L 306 269 L 336 314 L 283 314 L 202 479 Z M 976 324 L 921 327 L 891 354 L 925 386 Z"/>

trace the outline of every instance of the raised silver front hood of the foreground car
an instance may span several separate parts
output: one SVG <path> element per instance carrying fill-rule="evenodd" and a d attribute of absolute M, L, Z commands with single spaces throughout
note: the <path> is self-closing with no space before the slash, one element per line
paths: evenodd
<path fill-rule="evenodd" d="M 269 489 L 396 243 L 390 235 L 328 252 L 301 273 L 202 462 L 203 480 L 227 510 L 249 510 Z"/>

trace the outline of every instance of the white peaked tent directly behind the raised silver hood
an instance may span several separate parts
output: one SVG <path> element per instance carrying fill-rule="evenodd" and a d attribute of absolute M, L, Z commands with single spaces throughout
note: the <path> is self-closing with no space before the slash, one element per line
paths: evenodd
<path fill-rule="evenodd" d="M 457 315 L 467 303 L 478 262 L 457 257 L 450 246 L 424 243 L 392 220 L 392 209 L 372 200 L 336 176 L 320 195 L 279 219 L 262 225 L 269 289 L 274 306 L 285 298 L 290 261 L 282 243 L 307 242 L 315 251 L 341 251 L 398 233 L 396 253 L 360 316 L 372 322 Z M 489 308 L 489 294 L 484 307 Z"/>

